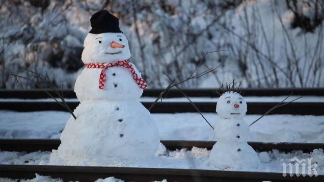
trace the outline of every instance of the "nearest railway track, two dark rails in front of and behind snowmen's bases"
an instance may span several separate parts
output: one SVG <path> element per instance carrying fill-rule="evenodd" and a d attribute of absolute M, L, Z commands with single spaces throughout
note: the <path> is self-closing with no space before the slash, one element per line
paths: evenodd
<path fill-rule="evenodd" d="M 168 150 L 193 146 L 211 149 L 215 141 L 180 141 L 163 140 Z M 0 139 L 1 151 L 51 151 L 57 149 L 59 139 Z M 249 142 L 257 151 L 277 149 L 283 152 L 302 150 L 311 152 L 313 149 L 324 148 L 324 144 L 317 143 L 264 143 Z M 98 178 L 115 178 L 125 181 L 148 182 L 167 179 L 168 182 L 323 182 L 324 176 L 317 177 L 283 177 L 281 173 L 219 171 L 198 169 L 161 169 L 161 168 L 130 168 L 130 167 L 89 167 L 89 166 L 48 166 L 48 165 L 0 165 L 0 177 L 13 179 L 31 179 L 35 173 L 64 181 L 93 182 Z"/>

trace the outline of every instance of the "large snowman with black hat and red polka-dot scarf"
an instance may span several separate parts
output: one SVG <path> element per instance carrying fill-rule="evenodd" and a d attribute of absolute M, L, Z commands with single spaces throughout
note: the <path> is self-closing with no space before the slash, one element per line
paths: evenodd
<path fill-rule="evenodd" d="M 150 112 L 139 102 L 146 82 L 128 59 L 128 41 L 118 19 L 95 13 L 84 40 L 86 65 L 74 91 L 81 102 L 63 130 L 50 164 L 123 165 L 155 156 L 160 145 Z"/>

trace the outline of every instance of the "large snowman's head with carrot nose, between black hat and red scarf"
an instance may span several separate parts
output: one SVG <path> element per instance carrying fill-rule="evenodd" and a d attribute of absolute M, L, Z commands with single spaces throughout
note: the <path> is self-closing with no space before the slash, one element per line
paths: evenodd
<path fill-rule="evenodd" d="M 84 39 L 82 61 L 88 63 L 109 63 L 131 57 L 128 40 L 123 33 L 88 33 Z"/>

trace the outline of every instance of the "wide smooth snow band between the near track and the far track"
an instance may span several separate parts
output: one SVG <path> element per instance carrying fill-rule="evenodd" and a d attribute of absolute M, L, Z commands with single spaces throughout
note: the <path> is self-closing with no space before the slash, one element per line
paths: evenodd
<path fill-rule="evenodd" d="M 152 114 L 163 140 L 215 140 L 198 113 Z M 216 113 L 204 113 L 214 125 Z M 260 115 L 247 115 L 251 123 Z M 70 114 L 0 110 L 0 138 L 59 138 Z M 250 129 L 249 141 L 324 142 L 324 116 L 267 115 Z"/>

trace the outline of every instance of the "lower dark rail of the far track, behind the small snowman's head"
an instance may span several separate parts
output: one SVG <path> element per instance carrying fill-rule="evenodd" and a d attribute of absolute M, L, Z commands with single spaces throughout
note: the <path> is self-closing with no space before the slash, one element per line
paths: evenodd
<path fill-rule="evenodd" d="M 73 110 L 79 102 L 67 102 Z M 151 102 L 142 102 L 148 108 Z M 247 114 L 264 114 L 278 103 L 247 103 Z M 201 112 L 213 112 L 216 110 L 216 102 L 195 102 Z M 321 103 L 290 103 L 274 109 L 270 114 L 296 114 L 296 115 L 323 115 L 324 102 Z M 20 112 L 56 110 L 66 111 L 64 107 L 55 102 L 0 102 L 0 110 L 14 110 Z M 151 113 L 180 113 L 197 112 L 189 102 L 164 102 L 157 103 L 150 111 Z"/>

